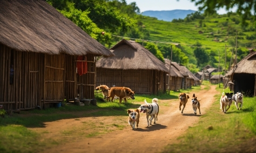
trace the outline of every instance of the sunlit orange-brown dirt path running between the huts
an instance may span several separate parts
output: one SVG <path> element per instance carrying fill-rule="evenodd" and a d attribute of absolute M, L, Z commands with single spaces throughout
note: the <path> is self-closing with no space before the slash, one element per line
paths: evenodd
<path fill-rule="evenodd" d="M 201 113 L 205 114 L 205 110 L 214 102 L 214 95 L 219 94 L 215 90 L 216 86 L 210 86 L 210 89 L 200 90 L 195 92 L 201 104 Z M 203 89 L 203 86 L 202 86 Z M 178 136 L 183 134 L 189 126 L 193 126 L 199 120 L 199 112 L 194 115 L 191 106 L 191 97 L 193 91 L 189 93 L 189 102 L 184 109 L 183 114 L 179 110 L 178 99 L 159 100 L 160 114 L 158 121 L 152 126 L 147 126 L 146 115 L 141 114 L 139 128 L 132 130 L 128 126 L 127 116 L 102 116 L 102 117 L 87 117 L 80 118 L 79 121 L 67 119 L 61 121 L 47 122 L 44 128 L 33 128 L 34 131 L 45 132 L 45 139 L 58 139 L 61 135 L 58 131 L 76 127 L 75 129 L 89 130 L 81 122 L 93 121 L 94 123 L 102 122 L 111 124 L 111 122 L 122 122 L 125 127 L 122 130 L 95 136 L 92 138 L 75 137 L 71 138 L 70 142 L 58 145 L 54 148 L 46 148 L 44 153 L 148 153 L 147 148 L 150 147 L 150 153 L 158 153 L 170 143 L 177 142 Z M 143 102 L 141 102 L 142 104 Z M 164 103 L 168 103 L 164 105 Z M 79 126 L 84 126 L 78 128 Z"/>

